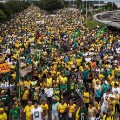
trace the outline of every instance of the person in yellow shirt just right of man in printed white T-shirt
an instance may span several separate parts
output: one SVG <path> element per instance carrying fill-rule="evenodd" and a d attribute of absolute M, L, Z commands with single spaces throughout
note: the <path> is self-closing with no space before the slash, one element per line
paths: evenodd
<path fill-rule="evenodd" d="M 46 100 L 42 101 L 40 107 L 43 109 L 44 120 L 48 120 L 48 104 L 46 103 Z"/>

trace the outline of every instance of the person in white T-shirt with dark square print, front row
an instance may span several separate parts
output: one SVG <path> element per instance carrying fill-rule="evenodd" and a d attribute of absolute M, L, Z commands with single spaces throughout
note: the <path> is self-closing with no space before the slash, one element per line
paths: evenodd
<path fill-rule="evenodd" d="M 43 120 L 43 109 L 34 103 L 34 108 L 31 110 L 31 120 Z"/>

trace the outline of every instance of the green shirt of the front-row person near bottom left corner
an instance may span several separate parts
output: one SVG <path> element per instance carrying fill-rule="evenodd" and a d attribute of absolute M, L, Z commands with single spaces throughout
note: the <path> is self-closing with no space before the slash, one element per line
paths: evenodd
<path fill-rule="evenodd" d="M 9 111 L 9 115 L 13 120 L 18 119 L 20 117 L 20 108 L 19 107 L 15 107 L 14 109 L 11 108 Z"/>

